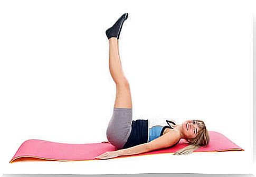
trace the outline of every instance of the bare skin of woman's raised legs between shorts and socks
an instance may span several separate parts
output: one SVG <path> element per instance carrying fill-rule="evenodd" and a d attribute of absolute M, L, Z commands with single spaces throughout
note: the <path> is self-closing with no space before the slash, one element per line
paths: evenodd
<path fill-rule="evenodd" d="M 116 37 L 109 39 L 109 71 L 116 83 L 116 100 L 114 107 L 132 108 L 130 86 L 124 72 L 122 71 L 121 60 Z"/>

